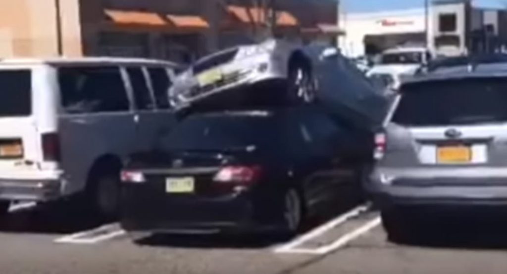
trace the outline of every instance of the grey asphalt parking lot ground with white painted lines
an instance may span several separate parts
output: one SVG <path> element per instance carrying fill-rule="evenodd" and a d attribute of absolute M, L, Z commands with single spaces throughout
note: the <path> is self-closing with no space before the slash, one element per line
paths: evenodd
<path fill-rule="evenodd" d="M 348 205 L 295 239 L 152 237 L 133 244 L 116 223 L 86 220 L 62 205 L 22 204 L 0 225 L 1 273 L 505 273 L 507 225 L 461 220 L 430 240 L 386 240 L 378 212 Z M 66 215 L 67 214 L 67 215 Z M 69 215 L 72 214 L 72 215 Z M 460 229 L 458 229 L 460 227 Z"/>

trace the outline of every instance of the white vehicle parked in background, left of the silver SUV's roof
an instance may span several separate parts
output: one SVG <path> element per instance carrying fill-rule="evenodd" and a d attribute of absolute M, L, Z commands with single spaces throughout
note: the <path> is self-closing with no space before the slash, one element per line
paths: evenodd
<path fill-rule="evenodd" d="M 367 76 L 380 78 L 389 88 L 397 89 L 404 77 L 414 75 L 430 60 L 431 54 L 424 47 L 389 49 L 382 53 L 379 63 L 367 72 Z"/>

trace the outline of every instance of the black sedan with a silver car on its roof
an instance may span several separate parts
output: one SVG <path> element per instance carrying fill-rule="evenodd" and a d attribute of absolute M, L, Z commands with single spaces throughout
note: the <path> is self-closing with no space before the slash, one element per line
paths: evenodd
<path fill-rule="evenodd" d="M 358 193 L 372 162 L 371 132 L 312 105 L 194 113 L 160 139 L 122 172 L 121 224 L 133 235 L 293 235 Z"/>

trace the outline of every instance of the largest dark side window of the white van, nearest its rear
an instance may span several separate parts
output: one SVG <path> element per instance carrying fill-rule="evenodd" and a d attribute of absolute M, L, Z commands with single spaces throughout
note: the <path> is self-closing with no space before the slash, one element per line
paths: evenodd
<path fill-rule="evenodd" d="M 58 79 L 62 105 L 68 113 L 129 110 L 118 67 L 60 68 Z"/>

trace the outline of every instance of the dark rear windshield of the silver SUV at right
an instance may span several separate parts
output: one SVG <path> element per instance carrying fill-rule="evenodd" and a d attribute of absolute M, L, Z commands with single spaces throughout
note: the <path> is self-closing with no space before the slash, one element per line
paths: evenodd
<path fill-rule="evenodd" d="M 412 126 L 507 122 L 507 80 L 457 79 L 402 87 L 393 122 Z"/>

